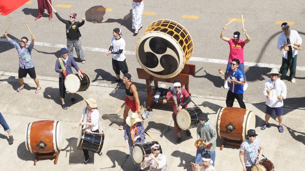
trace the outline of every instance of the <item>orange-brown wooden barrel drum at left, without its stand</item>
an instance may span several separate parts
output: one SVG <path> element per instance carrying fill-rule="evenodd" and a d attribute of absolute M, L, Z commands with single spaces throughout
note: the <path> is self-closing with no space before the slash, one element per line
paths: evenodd
<path fill-rule="evenodd" d="M 63 128 L 59 121 L 31 122 L 25 130 L 25 146 L 31 153 L 52 153 L 63 149 Z"/>

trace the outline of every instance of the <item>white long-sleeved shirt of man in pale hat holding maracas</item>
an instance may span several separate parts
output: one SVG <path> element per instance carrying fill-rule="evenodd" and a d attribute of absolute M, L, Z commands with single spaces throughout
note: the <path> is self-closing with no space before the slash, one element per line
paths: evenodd
<path fill-rule="evenodd" d="M 267 89 L 270 90 L 270 100 L 266 97 Z M 269 107 L 281 107 L 284 105 L 283 100 L 278 100 L 278 96 L 283 96 L 283 99 L 286 99 L 287 88 L 282 80 L 277 79 L 275 81 L 275 89 L 273 89 L 272 79 L 270 79 L 265 82 L 263 93 L 266 99 L 266 105 L 268 105 Z"/>

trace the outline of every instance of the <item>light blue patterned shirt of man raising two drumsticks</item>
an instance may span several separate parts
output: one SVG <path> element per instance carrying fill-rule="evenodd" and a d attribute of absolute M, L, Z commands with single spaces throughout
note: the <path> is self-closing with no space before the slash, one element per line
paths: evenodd
<path fill-rule="evenodd" d="M 9 39 L 9 43 L 11 43 L 17 49 L 20 68 L 25 67 L 26 69 L 28 69 L 34 67 L 34 63 L 31 56 L 34 44 L 30 43 L 30 45 L 27 45 L 24 49 L 22 49 L 21 45 L 13 41 L 11 38 Z"/>

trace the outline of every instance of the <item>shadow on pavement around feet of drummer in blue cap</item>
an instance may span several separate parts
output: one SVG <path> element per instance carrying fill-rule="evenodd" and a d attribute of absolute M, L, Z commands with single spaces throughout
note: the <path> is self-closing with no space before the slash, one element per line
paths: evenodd
<path fill-rule="evenodd" d="M 67 107 L 72 106 L 72 102 L 70 100 L 71 99 L 70 94 L 71 93 L 66 92 L 66 95 L 65 95 L 65 104 L 66 104 Z M 61 105 L 61 99 L 60 99 L 60 96 L 59 96 L 59 88 L 46 87 L 45 91 L 43 92 L 43 97 L 46 98 L 46 99 L 54 100 L 54 102 L 56 104 Z M 74 99 L 76 100 L 76 104 L 78 102 L 84 100 L 84 98 L 77 93 L 74 93 Z"/>

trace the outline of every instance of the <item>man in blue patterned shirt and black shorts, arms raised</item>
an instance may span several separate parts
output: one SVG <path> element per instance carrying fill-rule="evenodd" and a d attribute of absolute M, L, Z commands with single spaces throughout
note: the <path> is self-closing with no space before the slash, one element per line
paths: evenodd
<path fill-rule="evenodd" d="M 6 32 L 3 33 L 3 36 L 11 43 L 18 52 L 18 58 L 19 58 L 19 70 L 18 70 L 18 78 L 21 86 L 17 89 L 17 92 L 20 92 L 24 89 L 24 82 L 23 77 L 26 77 L 27 74 L 30 75 L 31 78 L 33 78 L 34 82 L 36 83 L 36 91 L 35 93 L 39 93 L 41 90 L 41 87 L 39 85 L 39 80 L 36 77 L 35 67 L 32 60 L 32 49 L 34 47 L 34 40 L 35 37 L 32 35 L 32 42 L 30 45 L 27 46 L 28 39 L 27 37 L 22 37 L 20 44 L 13 41 L 11 38 L 9 38 L 6 34 Z"/>

